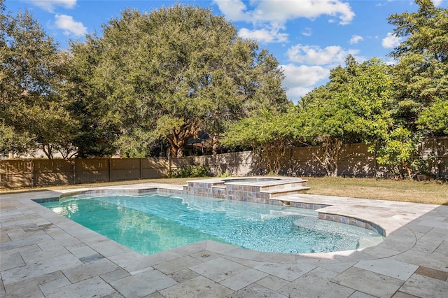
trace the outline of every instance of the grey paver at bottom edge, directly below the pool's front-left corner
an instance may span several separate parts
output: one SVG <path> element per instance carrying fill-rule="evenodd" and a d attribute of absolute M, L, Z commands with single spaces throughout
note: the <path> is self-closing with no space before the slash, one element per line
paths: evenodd
<path fill-rule="evenodd" d="M 155 269 L 111 282 L 113 288 L 125 297 L 144 297 L 176 284 L 173 278 Z"/>

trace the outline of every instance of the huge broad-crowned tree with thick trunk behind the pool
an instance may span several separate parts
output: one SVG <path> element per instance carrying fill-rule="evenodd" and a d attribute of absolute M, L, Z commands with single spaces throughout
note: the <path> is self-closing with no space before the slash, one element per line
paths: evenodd
<path fill-rule="evenodd" d="M 260 108 L 287 104 L 276 59 L 239 38 L 232 24 L 210 10 L 127 9 L 103 31 L 100 38 L 72 45 L 76 64 L 87 71 L 73 73 L 71 94 L 84 96 L 76 106 L 83 125 L 98 131 L 98 139 L 102 132 L 111 135 L 104 141 L 120 152 L 131 139 L 166 139 L 178 157 L 199 131 L 221 134 Z M 75 84 L 79 79 L 83 83 Z M 135 139 L 142 136 L 137 132 L 151 134 Z"/>

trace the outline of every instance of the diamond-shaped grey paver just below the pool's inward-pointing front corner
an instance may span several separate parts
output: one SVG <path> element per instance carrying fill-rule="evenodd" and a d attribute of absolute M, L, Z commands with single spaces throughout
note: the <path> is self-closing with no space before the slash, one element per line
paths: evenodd
<path fill-rule="evenodd" d="M 210 260 L 209 262 L 194 265 L 189 269 L 210 278 L 213 281 L 220 282 L 246 271 L 248 267 L 219 257 L 218 259 Z"/>

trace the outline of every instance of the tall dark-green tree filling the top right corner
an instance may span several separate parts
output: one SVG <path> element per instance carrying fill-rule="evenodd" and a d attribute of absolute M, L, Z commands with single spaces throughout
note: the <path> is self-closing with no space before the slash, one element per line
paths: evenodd
<path fill-rule="evenodd" d="M 395 13 L 389 23 L 395 36 L 406 38 L 391 57 L 394 70 L 394 118 L 412 132 L 419 127 L 419 113 L 448 95 L 448 10 L 435 8 L 430 0 L 416 0 L 415 13 Z M 425 117 L 425 116 L 423 116 Z"/>

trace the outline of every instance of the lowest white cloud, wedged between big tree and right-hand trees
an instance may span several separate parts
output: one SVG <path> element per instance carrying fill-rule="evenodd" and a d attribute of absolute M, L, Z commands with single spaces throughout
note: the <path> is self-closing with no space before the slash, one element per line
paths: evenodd
<path fill-rule="evenodd" d="M 300 97 L 314 89 L 316 83 L 330 76 L 330 69 L 322 66 L 296 66 L 294 64 L 281 65 L 285 79 L 283 87 L 286 87 L 288 99 L 295 103 Z"/>

